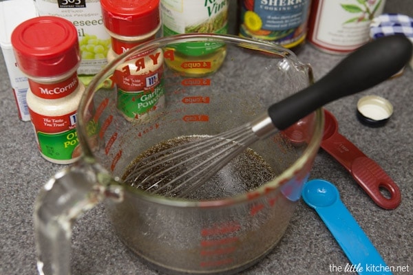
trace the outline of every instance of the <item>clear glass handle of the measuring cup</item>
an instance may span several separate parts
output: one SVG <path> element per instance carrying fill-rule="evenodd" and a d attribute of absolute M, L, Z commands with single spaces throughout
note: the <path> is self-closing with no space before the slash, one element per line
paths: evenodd
<path fill-rule="evenodd" d="M 76 219 L 106 197 L 122 198 L 120 187 L 111 186 L 110 181 L 98 164 L 81 159 L 43 186 L 34 206 L 39 274 L 70 274 L 72 225 Z"/>

